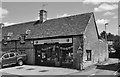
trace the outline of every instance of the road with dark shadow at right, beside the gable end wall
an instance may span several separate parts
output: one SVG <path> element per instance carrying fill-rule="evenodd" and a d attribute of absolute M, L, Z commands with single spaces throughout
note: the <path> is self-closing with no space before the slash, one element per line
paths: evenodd
<path fill-rule="evenodd" d="M 107 63 L 96 65 L 87 71 L 82 71 L 81 73 L 74 73 L 72 75 L 88 75 L 88 77 L 114 77 L 120 73 L 120 64 L 118 64 L 118 59 L 110 59 Z"/>

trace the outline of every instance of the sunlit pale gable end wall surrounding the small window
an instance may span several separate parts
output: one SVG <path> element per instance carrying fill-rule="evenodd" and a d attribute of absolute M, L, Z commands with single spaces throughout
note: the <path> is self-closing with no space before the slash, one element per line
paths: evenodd
<path fill-rule="evenodd" d="M 86 50 L 91 50 L 91 60 L 87 60 Z M 101 62 L 105 60 L 107 56 L 107 49 L 105 41 L 101 42 L 98 39 L 97 29 L 95 26 L 94 18 L 91 17 L 88 26 L 85 30 L 84 35 L 84 57 L 83 57 L 83 67 L 88 67 L 92 64 Z"/>

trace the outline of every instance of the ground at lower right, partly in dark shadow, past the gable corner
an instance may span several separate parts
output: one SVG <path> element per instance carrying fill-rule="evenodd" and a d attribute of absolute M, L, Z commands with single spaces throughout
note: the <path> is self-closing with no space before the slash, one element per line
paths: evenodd
<path fill-rule="evenodd" d="M 117 75 L 120 64 L 118 59 L 109 59 L 106 62 L 93 65 L 81 72 L 72 73 L 71 75 Z"/>

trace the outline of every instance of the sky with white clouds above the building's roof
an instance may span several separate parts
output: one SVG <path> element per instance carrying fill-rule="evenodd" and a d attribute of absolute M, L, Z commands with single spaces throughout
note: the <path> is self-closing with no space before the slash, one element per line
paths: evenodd
<path fill-rule="evenodd" d="M 99 33 L 105 30 L 105 23 L 109 23 L 107 32 L 118 34 L 118 0 L 64 1 L 38 2 L 24 0 L 24 2 L 15 2 L 13 0 L 12 2 L 11 0 L 10 2 L 9 0 L 8 2 L 8 0 L 4 0 L 2 6 L 0 6 L 0 20 L 5 26 L 35 21 L 39 19 L 39 10 L 42 8 L 48 12 L 48 19 L 94 12 Z M 42 7 L 43 4 L 44 7 Z"/>

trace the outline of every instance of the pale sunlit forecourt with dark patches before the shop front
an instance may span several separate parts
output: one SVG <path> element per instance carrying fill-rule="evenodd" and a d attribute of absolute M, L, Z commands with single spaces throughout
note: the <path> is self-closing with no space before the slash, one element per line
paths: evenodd
<path fill-rule="evenodd" d="M 75 69 L 23 65 L 1 69 L 0 72 L 12 75 L 67 75 L 79 72 Z"/>

